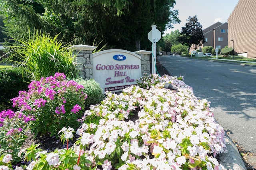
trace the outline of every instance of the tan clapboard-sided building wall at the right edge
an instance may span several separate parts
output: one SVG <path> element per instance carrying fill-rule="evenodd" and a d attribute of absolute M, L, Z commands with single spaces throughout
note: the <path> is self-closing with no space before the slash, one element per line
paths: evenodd
<path fill-rule="evenodd" d="M 228 18 L 228 46 L 236 53 L 247 53 L 248 58 L 256 57 L 256 1 L 239 0 Z"/>

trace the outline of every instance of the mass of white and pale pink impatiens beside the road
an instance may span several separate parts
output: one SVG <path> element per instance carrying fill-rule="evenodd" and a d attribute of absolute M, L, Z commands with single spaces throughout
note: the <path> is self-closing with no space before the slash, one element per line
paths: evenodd
<path fill-rule="evenodd" d="M 149 75 L 119 95 L 106 93 L 100 105 L 84 113 L 73 147 L 48 154 L 34 145 L 24 150 L 33 160 L 28 169 L 224 168 L 215 158 L 226 152 L 224 130 L 209 102 L 198 100 L 181 79 Z M 165 83 L 178 91 L 165 89 Z M 63 128 L 61 139 L 68 141 L 72 131 Z"/>

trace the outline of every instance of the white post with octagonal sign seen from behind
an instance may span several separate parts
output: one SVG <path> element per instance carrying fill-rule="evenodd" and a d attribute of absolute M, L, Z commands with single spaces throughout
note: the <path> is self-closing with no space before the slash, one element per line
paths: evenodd
<path fill-rule="evenodd" d="M 148 33 L 148 40 L 152 42 L 152 74 L 156 74 L 156 42 L 161 39 L 161 32 L 156 26 L 151 26 L 152 30 Z"/>

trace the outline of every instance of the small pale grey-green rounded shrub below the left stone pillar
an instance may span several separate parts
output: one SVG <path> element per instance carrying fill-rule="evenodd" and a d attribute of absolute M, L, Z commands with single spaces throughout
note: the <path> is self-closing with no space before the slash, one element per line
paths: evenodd
<path fill-rule="evenodd" d="M 100 88 L 100 84 L 94 79 L 82 79 L 81 77 L 78 77 L 74 79 L 74 81 L 84 86 L 84 93 L 87 94 L 87 99 L 84 103 L 85 107 L 99 104 L 104 99 L 104 93 Z"/>

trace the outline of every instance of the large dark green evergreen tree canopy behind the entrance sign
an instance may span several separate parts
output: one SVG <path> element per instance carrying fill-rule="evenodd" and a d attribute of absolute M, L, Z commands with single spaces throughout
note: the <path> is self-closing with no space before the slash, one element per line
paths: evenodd
<path fill-rule="evenodd" d="M 28 38 L 27 30 L 57 34 L 64 42 L 108 48 L 150 49 L 151 25 L 164 32 L 179 23 L 175 0 L 3 0 L 8 36 Z"/>

